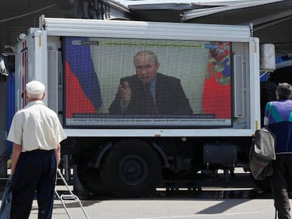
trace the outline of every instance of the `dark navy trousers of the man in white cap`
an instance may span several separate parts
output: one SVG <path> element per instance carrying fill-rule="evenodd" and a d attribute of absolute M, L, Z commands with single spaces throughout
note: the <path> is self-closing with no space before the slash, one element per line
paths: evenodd
<path fill-rule="evenodd" d="M 21 153 L 11 180 L 11 219 L 29 218 L 35 195 L 39 211 L 38 218 L 51 218 L 55 182 L 56 156 L 54 150 Z"/>

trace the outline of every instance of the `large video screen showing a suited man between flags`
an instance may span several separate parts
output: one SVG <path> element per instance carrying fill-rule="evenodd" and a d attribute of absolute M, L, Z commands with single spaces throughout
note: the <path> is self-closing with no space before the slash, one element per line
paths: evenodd
<path fill-rule="evenodd" d="M 231 42 L 63 37 L 65 123 L 231 126 Z"/>

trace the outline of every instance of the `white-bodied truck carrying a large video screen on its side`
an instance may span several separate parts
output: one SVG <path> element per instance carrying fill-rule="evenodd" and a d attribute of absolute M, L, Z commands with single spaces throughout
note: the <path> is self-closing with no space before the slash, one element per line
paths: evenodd
<path fill-rule="evenodd" d="M 172 105 L 162 113 L 145 113 L 139 104 L 133 106 L 138 113 L 109 110 L 121 97 L 123 80 L 135 77 L 137 68 L 152 68 L 134 65 L 140 51 L 156 54 L 157 81 L 159 74 L 171 77 L 183 92 L 164 87 L 161 105 Z M 226 181 L 234 168 L 248 170 L 253 134 L 261 126 L 260 74 L 275 67 L 273 45 L 260 46 L 252 25 L 42 15 L 39 27 L 20 35 L 15 53 L 16 108 L 27 104 L 27 82 L 44 83 L 44 104 L 58 113 L 68 136 L 61 154 L 63 164 L 74 167 L 76 187 L 149 196 L 160 186 L 195 187 L 204 170 L 222 169 Z M 183 107 L 181 99 L 190 112 L 172 111 Z"/>

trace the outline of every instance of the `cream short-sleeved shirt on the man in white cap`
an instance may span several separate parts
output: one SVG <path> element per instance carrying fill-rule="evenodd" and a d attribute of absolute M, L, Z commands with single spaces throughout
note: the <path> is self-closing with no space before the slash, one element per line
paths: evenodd
<path fill-rule="evenodd" d="M 66 134 L 58 115 L 42 101 L 31 101 L 13 117 L 7 140 L 23 146 L 22 152 L 56 149 Z"/>

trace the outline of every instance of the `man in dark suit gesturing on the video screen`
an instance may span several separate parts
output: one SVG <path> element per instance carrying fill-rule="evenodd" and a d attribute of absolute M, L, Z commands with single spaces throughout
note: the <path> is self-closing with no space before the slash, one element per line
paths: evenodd
<path fill-rule="evenodd" d="M 111 114 L 190 115 L 190 103 L 181 81 L 157 73 L 159 61 L 152 51 L 134 56 L 136 75 L 123 77 L 109 107 Z"/>

